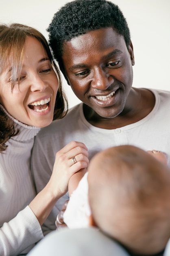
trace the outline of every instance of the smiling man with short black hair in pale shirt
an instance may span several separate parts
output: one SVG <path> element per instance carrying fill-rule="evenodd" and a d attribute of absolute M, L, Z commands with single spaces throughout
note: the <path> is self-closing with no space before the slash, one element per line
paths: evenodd
<path fill-rule="evenodd" d="M 118 6 L 106 0 L 69 2 L 55 13 L 48 32 L 54 57 L 82 103 L 37 135 L 32 156 L 37 192 L 50 179 L 56 152 L 70 141 L 83 142 L 89 159 L 123 144 L 169 156 L 170 92 L 132 87 L 133 45 Z M 57 202 L 44 234 L 56 228 L 67 199 L 66 194 Z"/>

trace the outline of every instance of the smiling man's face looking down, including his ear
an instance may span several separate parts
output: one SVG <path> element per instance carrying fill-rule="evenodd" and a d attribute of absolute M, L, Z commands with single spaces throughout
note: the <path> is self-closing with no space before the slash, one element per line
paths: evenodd
<path fill-rule="evenodd" d="M 134 58 L 123 36 L 110 27 L 77 36 L 64 44 L 62 60 L 72 90 L 100 117 L 113 118 L 124 110 Z"/>

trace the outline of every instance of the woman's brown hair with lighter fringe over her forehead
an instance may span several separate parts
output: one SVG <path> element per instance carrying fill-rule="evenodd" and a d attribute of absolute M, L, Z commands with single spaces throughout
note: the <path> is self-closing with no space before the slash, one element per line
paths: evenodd
<path fill-rule="evenodd" d="M 4 67 L 9 66 L 11 68 L 11 90 L 13 91 L 17 78 L 21 74 L 24 47 L 28 36 L 36 38 L 42 44 L 58 76 L 59 89 L 54 107 L 53 120 L 63 118 L 68 111 L 68 103 L 61 88 L 61 75 L 54 62 L 46 38 L 37 29 L 17 23 L 0 25 L 0 76 Z M 18 131 L 15 130 L 13 121 L 0 109 L 0 152 L 6 150 L 6 142 L 17 133 Z"/>

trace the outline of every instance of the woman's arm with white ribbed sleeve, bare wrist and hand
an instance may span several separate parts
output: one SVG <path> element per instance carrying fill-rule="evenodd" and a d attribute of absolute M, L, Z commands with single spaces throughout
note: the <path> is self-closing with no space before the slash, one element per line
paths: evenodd
<path fill-rule="evenodd" d="M 76 155 L 77 163 L 72 157 Z M 41 225 L 48 217 L 54 204 L 68 191 L 70 177 L 88 165 L 87 148 L 73 141 L 59 150 L 48 184 L 32 200 L 29 206 L 15 218 L 0 227 L 0 255 L 15 256 L 43 238 Z"/>

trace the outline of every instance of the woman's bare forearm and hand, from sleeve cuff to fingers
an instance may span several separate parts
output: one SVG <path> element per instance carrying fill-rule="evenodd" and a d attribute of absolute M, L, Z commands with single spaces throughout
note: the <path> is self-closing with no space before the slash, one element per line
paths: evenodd
<path fill-rule="evenodd" d="M 72 157 L 76 157 L 75 164 L 72 162 Z M 44 223 L 57 200 L 68 191 L 70 177 L 79 170 L 87 168 L 88 163 L 87 148 L 81 142 L 72 141 L 57 152 L 48 184 L 29 204 L 40 225 Z"/>

